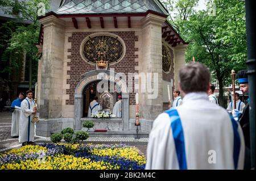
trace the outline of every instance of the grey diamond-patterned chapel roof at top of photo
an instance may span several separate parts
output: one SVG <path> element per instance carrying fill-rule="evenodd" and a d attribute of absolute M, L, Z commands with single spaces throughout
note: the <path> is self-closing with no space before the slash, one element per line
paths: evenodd
<path fill-rule="evenodd" d="M 56 14 L 143 13 L 148 10 L 168 15 L 159 0 L 65 0 Z"/>

